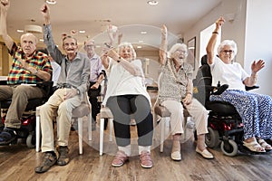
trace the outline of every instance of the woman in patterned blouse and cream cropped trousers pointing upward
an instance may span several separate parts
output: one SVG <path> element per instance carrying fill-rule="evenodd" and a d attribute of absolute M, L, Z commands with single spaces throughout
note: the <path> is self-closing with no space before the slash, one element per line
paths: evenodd
<path fill-rule="evenodd" d="M 196 151 L 205 158 L 213 158 L 213 155 L 205 146 L 205 134 L 208 133 L 208 111 L 192 98 L 192 66 L 186 62 L 188 55 L 187 46 L 184 43 L 174 44 L 167 53 L 167 28 L 161 28 L 160 45 L 160 105 L 170 111 L 170 130 L 172 134 L 171 158 L 181 160 L 180 138 L 184 132 L 182 128 L 183 109 L 186 108 L 196 123 L 198 143 Z"/>

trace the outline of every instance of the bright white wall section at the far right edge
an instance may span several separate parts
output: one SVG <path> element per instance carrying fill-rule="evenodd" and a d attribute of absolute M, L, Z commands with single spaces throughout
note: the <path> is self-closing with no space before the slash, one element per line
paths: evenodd
<path fill-rule="evenodd" d="M 248 0 L 246 19 L 245 70 L 250 72 L 253 60 L 263 59 L 264 69 L 259 71 L 256 92 L 272 95 L 272 1 Z"/>

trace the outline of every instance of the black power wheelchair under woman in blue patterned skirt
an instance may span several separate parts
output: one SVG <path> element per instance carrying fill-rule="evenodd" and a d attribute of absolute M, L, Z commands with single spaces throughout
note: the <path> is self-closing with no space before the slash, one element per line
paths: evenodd
<path fill-rule="evenodd" d="M 208 131 L 205 143 L 209 148 L 220 146 L 221 151 L 228 157 L 234 157 L 238 152 L 247 155 L 257 155 L 243 146 L 243 123 L 238 111 L 228 102 L 209 101 L 211 94 L 219 95 L 228 89 L 228 85 L 211 86 L 211 73 L 207 62 L 207 55 L 201 58 L 201 66 L 197 77 L 193 80 L 194 97 L 199 100 L 207 110 L 209 110 Z M 257 89 L 257 86 L 246 87 L 246 90 Z"/>

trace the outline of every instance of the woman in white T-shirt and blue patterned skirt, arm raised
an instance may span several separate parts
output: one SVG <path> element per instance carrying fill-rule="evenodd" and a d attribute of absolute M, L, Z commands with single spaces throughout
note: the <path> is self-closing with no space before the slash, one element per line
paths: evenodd
<path fill-rule="evenodd" d="M 244 146 L 254 152 L 266 152 L 272 149 L 264 139 L 272 138 L 272 100 L 270 96 L 248 92 L 246 86 L 253 86 L 257 81 L 257 71 L 265 62 L 254 61 L 251 64 L 251 75 L 234 62 L 238 52 L 237 44 L 225 40 L 219 44 L 219 57 L 215 55 L 215 44 L 222 24 L 225 20 L 220 17 L 216 28 L 207 45 L 208 63 L 212 74 L 212 84 L 228 84 L 228 90 L 221 95 L 212 95 L 210 100 L 226 101 L 232 104 L 244 124 Z"/>

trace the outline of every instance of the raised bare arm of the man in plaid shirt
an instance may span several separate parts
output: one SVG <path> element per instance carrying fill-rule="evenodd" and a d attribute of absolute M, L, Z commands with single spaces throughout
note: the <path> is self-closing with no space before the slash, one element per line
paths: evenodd
<path fill-rule="evenodd" d="M 6 16 L 9 6 L 10 6 L 9 0 L 1 0 L 0 34 L 3 37 L 7 49 L 11 50 L 14 44 L 14 40 L 7 34 L 6 30 Z"/>

